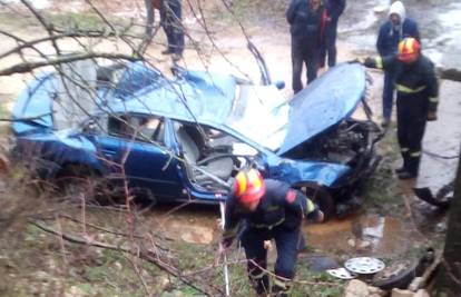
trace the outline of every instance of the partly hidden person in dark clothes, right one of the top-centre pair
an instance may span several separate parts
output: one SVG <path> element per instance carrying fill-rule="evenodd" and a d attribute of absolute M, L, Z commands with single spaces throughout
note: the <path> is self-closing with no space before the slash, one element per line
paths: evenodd
<path fill-rule="evenodd" d="M 345 9 L 345 0 L 327 0 L 327 24 L 325 33 L 325 49 L 322 51 L 322 67 L 325 63 L 326 57 L 328 58 L 328 67 L 336 65 L 336 36 L 337 36 L 337 21 Z"/>

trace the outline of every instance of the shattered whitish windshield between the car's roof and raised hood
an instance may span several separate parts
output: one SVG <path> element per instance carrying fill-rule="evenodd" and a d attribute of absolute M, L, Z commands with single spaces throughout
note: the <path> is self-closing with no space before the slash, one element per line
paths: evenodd
<path fill-rule="evenodd" d="M 239 86 L 226 125 L 276 151 L 288 127 L 290 105 L 274 86 Z"/>

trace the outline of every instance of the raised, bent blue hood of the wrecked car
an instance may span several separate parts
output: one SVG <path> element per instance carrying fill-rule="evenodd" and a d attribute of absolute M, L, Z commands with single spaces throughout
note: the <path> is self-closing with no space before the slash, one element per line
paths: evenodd
<path fill-rule="evenodd" d="M 314 80 L 290 102 L 288 131 L 277 155 L 288 152 L 350 117 L 365 87 L 365 71 L 359 63 L 339 65 Z"/>

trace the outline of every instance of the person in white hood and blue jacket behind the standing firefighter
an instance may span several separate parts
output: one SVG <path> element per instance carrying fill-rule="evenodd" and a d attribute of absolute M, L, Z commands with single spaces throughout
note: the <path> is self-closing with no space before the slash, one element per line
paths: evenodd
<path fill-rule="evenodd" d="M 394 2 L 389 10 L 389 20 L 384 22 L 377 36 L 376 48 L 381 57 L 395 55 L 399 42 L 405 37 L 413 37 L 420 41 L 420 32 L 414 20 L 406 18 L 405 7 L 401 1 Z M 394 72 L 386 70 L 384 72 L 383 88 L 383 128 L 391 122 L 393 105 L 393 79 Z"/>

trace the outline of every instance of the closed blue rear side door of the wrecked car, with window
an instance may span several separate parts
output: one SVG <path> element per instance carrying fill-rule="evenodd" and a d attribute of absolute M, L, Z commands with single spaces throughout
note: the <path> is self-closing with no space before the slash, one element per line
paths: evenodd
<path fill-rule="evenodd" d="M 175 158 L 165 147 L 160 117 L 125 113 L 107 116 L 107 132 L 95 137 L 110 178 L 131 189 L 149 189 L 156 198 L 184 198 Z"/>

